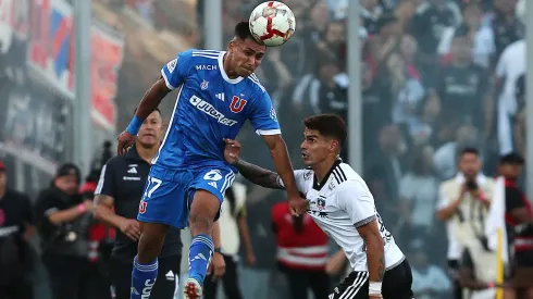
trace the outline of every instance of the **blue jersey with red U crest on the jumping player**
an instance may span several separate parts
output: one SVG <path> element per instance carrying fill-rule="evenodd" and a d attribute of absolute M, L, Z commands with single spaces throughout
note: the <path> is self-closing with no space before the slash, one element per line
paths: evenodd
<path fill-rule="evenodd" d="M 152 164 L 165 169 L 226 166 L 224 138 L 235 139 L 246 120 L 259 135 L 281 134 L 272 100 L 255 74 L 230 78 L 224 51 L 188 50 L 161 70 L 178 89 L 169 129 Z"/>

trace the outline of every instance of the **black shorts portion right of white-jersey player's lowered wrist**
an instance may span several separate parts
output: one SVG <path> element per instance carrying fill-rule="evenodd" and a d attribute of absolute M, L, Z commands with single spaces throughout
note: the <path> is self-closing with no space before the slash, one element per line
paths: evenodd
<path fill-rule="evenodd" d="M 382 295 L 384 299 L 411 299 L 411 266 L 404 260 L 397 266 L 387 270 L 383 277 Z"/>

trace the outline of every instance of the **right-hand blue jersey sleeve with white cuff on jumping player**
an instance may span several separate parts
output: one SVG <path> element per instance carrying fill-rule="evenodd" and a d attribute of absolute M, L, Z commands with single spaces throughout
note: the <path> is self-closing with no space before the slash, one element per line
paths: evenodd
<path fill-rule="evenodd" d="M 251 108 L 249 120 L 258 135 L 280 135 L 282 130 L 272 100 L 266 91 L 258 91 L 256 102 Z"/>

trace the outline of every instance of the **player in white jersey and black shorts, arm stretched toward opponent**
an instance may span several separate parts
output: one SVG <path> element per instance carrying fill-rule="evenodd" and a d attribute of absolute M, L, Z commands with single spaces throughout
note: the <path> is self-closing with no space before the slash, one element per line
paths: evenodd
<path fill-rule="evenodd" d="M 295 171 L 309 202 L 308 213 L 344 250 L 352 272 L 331 299 L 411 299 L 411 269 L 385 228 L 364 180 L 338 158 L 346 140 L 344 121 L 333 114 L 305 120 L 301 157 L 307 170 Z M 226 140 L 225 159 L 250 182 L 283 189 L 280 176 L 239 160 L 240 145 Z"/>

